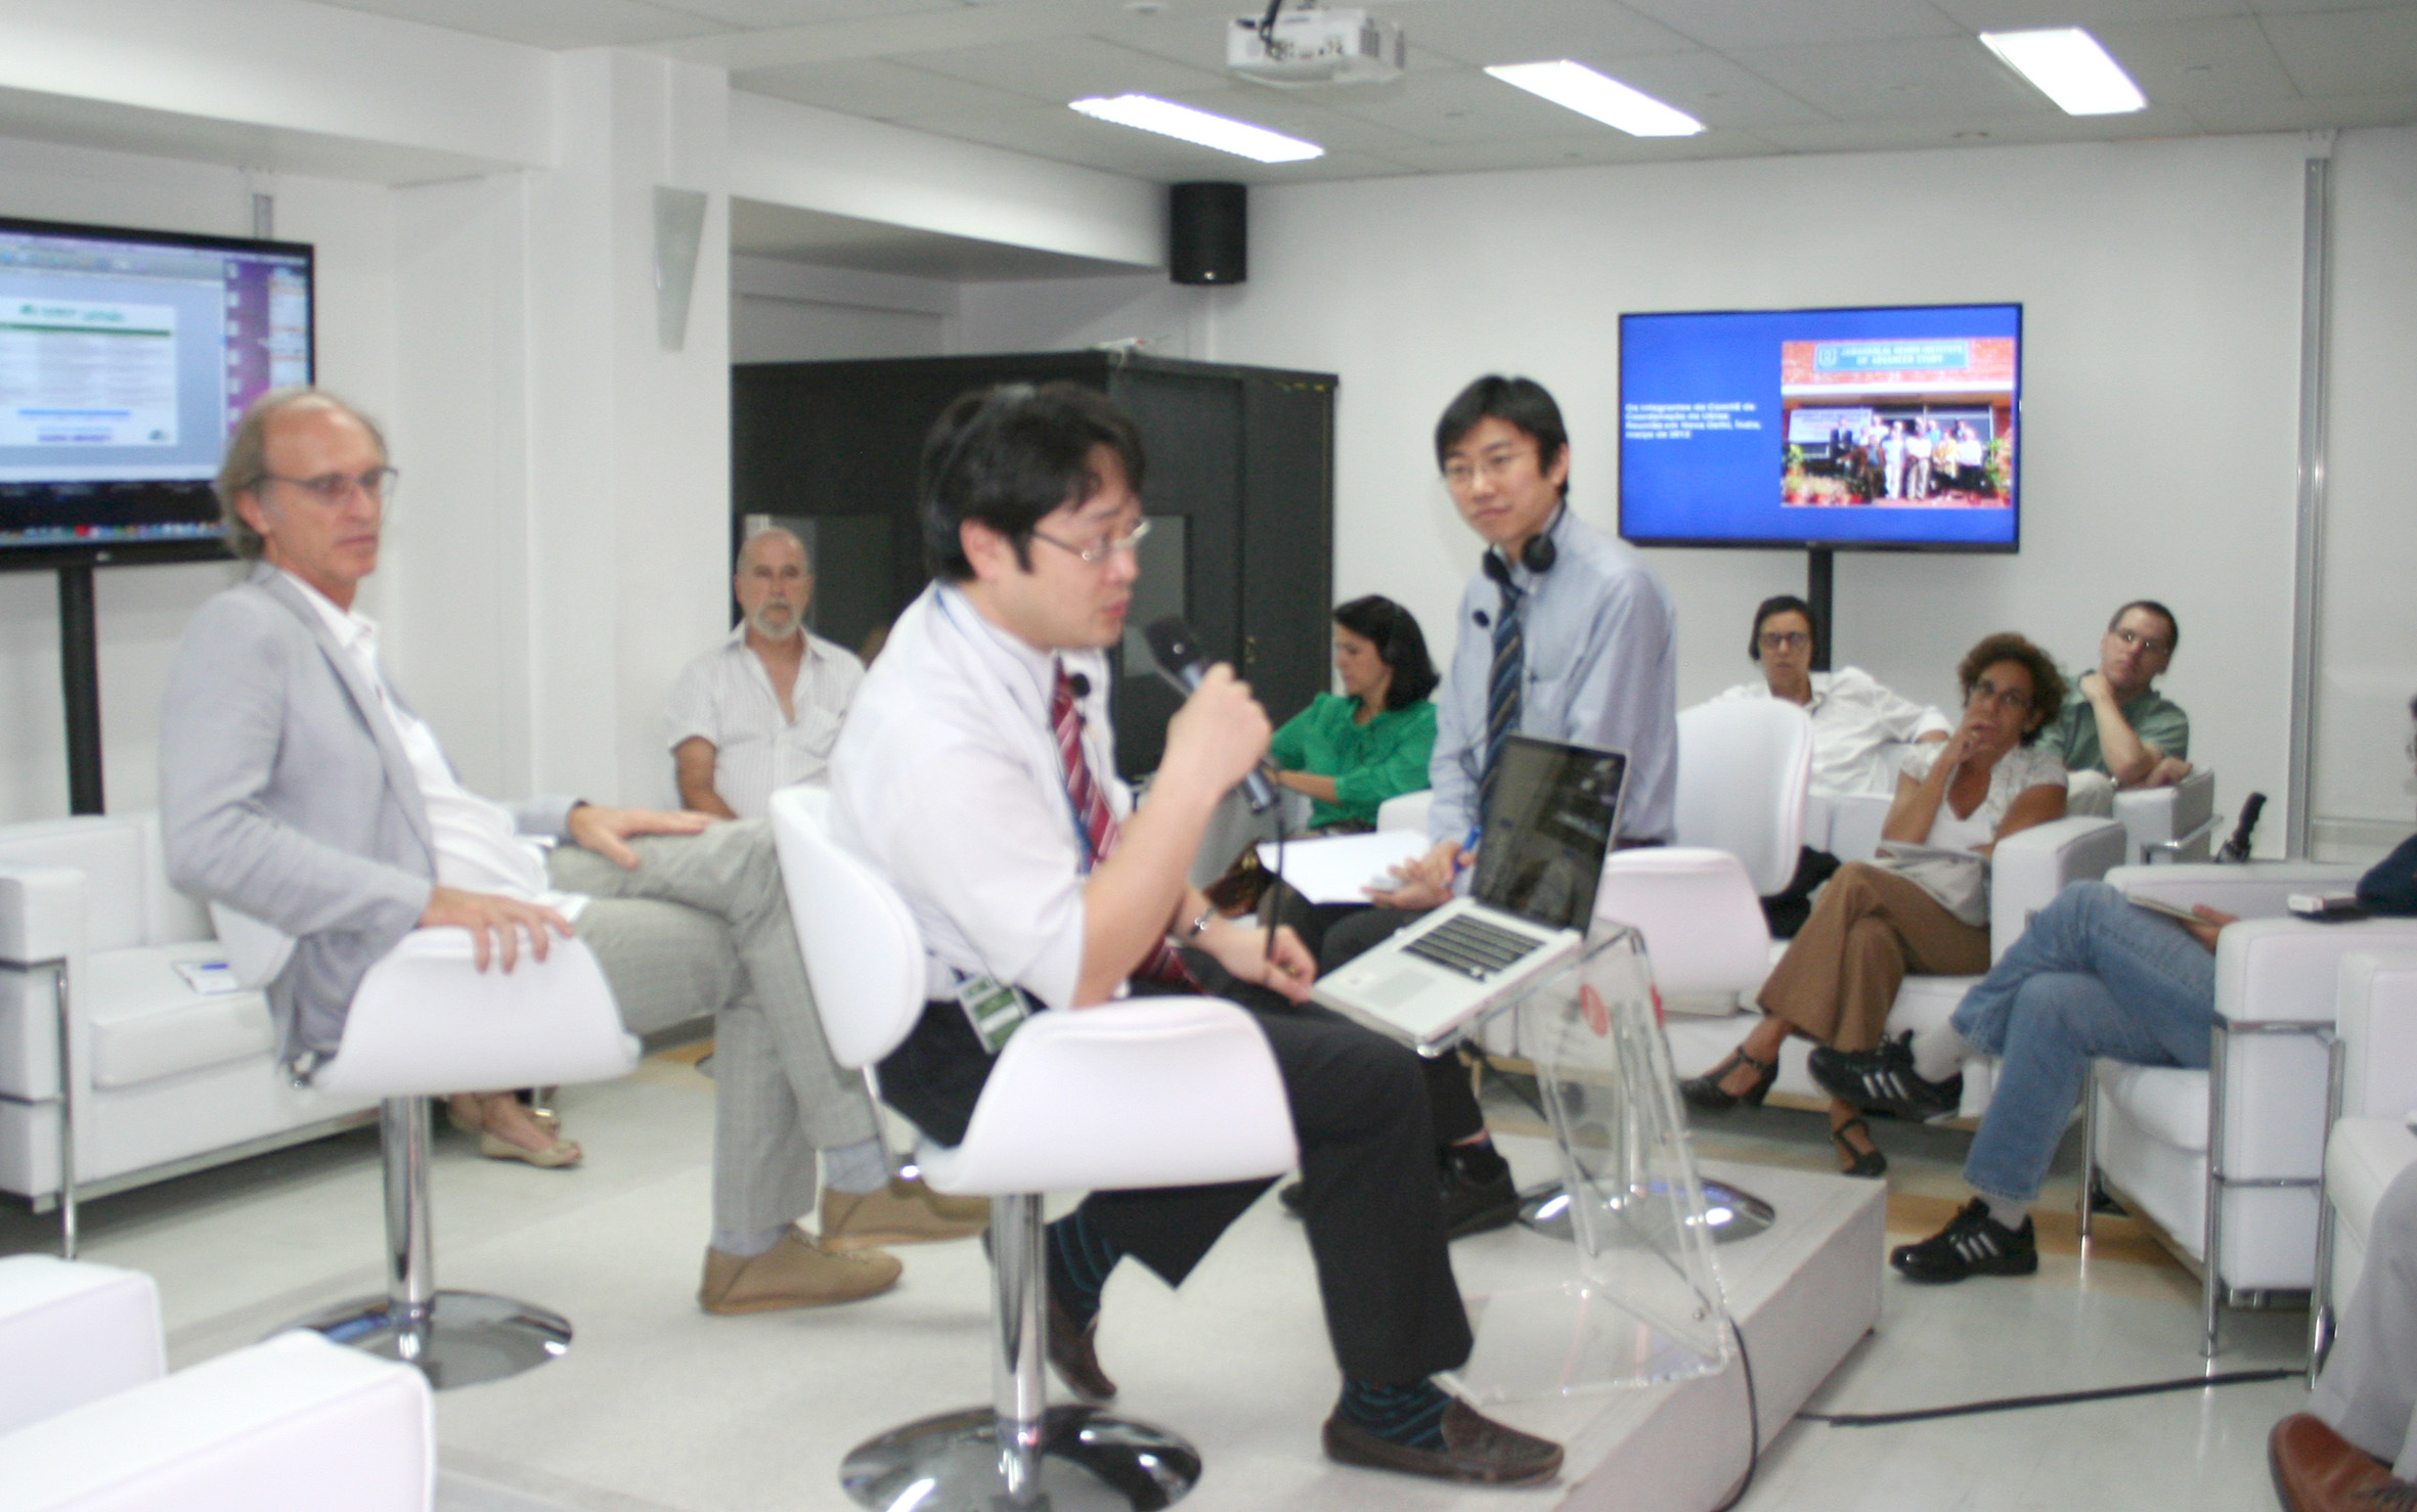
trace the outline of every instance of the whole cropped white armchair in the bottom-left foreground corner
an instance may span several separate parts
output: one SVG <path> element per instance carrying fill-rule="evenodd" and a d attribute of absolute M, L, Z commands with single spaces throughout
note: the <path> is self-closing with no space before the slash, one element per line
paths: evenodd
<path fill-rule="evenodd" d="M 150 1275 L 0 1258 L 7 1512 L 428 1512 L 416 1369 L 280 1333 L 167 1374 Z"/>

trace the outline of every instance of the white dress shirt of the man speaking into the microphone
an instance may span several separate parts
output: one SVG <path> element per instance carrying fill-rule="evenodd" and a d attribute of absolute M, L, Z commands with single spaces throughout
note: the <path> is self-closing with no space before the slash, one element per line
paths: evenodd
<path fill-rule="evenodd" d="M 1049 729 L 1056 669 L 1083 676 L 1083 756 L 1121 821 L 1107 657 L 1051 657 L 947 585 L 889 628 L 831 751 L 831 836 L 906 899 L 931 998 L 993 976 L 1071 1007 L 1083 973 L 1088 845 Z"/>

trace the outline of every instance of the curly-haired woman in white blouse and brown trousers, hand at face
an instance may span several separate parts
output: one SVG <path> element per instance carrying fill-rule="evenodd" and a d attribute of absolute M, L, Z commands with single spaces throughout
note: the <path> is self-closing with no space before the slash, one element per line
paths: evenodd
<path fill-rule="evenodd" d="M 2001 838 L 2064 816 L 2064 768 L 2030 746 L 2064 708 L 2064 679 L 2047 652 L 2011 633 L 1975 645 L 1955 674 L 1965 691 L 1963 722 L 1946 742 L 1905 754 L 1880 836 L 1987 857 Z M 1922 879 L 1885 860 L 1849 862 L 1762 983 L 1764 1019 L 1728 1060 L 1682 1092 L 1706 1111 L 1760 1104 L 1779 1077 L 1779 1046 L 1789 1034 L 1871 1051 L 1907 971 L 1987 969 L 1987 918 L 1965 923 Z M 1849 1176 L 1888 1169 L 1864 1118 L 1835 1099 L 1830 1140 Z"/>

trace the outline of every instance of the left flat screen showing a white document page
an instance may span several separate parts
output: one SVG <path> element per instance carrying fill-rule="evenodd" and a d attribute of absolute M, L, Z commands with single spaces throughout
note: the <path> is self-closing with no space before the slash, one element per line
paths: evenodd
<path fill-rule="evenodd" d="M 0 220 L 0 570 L 222 556 L 227 432 L 309 379 L 309 246 Z"/>

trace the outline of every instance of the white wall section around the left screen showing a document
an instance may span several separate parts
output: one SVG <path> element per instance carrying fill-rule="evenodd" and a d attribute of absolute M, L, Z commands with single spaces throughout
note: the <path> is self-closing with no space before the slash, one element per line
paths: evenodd
<path fill-rule="evenodd" d="M 358 403 L 392 403 L 394 285 L 387 191 L 324 179 L 0 140 L 10 215 L 251 234 L 251 191 L 273 191 L 278 234 L 319 246 L 319 374 Z M 104 568 L 94 575 L 102 662 L 102 778 L 111 809 L 160 802 L 160 693 L 193 609 L 234 580 L 227 565 Z M 370 611 L 375 597 L 365 599 Z M 68 812 L 51 572 L 0 572 L 0 821 Z"/>

